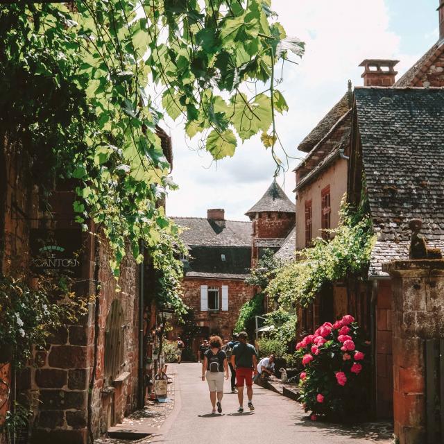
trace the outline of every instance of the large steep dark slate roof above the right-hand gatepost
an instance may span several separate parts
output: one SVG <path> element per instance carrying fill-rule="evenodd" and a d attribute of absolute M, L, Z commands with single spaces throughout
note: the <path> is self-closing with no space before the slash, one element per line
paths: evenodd
<path fill-rule="evenodd" d="M 357 87 L 355 101 L 379 273 L 408 257 L 412 218 L 431 246 L 444 243 L 444 89 Z"/>

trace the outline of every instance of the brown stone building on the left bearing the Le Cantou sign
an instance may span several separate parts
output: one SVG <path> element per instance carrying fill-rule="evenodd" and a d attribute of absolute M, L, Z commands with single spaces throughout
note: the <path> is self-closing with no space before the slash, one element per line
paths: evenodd
<path fill-rule="evenodd" d="M 165 136 L 161 135 L 165 138 L 162 145 L 171 153 L 171 140 Z M 0 363 L 2 379 L 12 385 L 10 399 L 0 413 L 15 400 L 27 399 L 33 418 L 22 429 L 20 442 L 85 444 L 89 433 L 99 436 L 144 403 L 139 331 L 144 330 L 142 310 L 148 311 L 148 318 L 151 314 L 149 257 L 137 265 L 128 246 L 117 289 L 109 264 L 110 248 L 100 227 L 90 223 L 90 232 L 85 233 L 74 222 L 71 190 L 75 184 L 56 185 L 49 198 L 49 213 L 42 205 L 32 164 L 20 142 L 12 143 L 2 135 L 1 274 L 17 277 L 24 273 L 31 284 L 37 276 L 36 248 L 51 239 L 51 245 L 63 251 L 60 254 L 76 258 L 76 266 L 70 270 L 76 295 L 92 296 L 94 302 L 77 323 L 63 325 L 44 348 L 36 348 L 30 365 L 17 372 L 16 378 L 10 364 Z M 142 267 L 147 272 L 143 282 Z M 57 271 L 67 273 L 63 266 Z"/>

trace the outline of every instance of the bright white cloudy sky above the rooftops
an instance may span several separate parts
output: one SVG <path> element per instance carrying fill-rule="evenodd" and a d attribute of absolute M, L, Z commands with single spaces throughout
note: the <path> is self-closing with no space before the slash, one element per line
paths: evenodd
<path fill-rule="evenodd" d="M 306 42 L 299 65 L 287 63 L 281 91 L 289 112 L 278 118 L 287 153 L 302 157 L 296 146 L 344 94 L 347 80 L 362 85 L 365 58 L 400 60 L 400 76 L 438 38 L 438 0 L 273 0 L 287 35 Z M 182 124 L 169 124 L 173 137 L 173 179 L 180 189 L 167 199 L 170 216 L 205 217 L 207 208 L 224 208 L 225 217 L 246 220 L 244 213 L 271 183 L 275 164 L 259 137 L 239 144 L 232 158 L 212 162 L 185 137 Z M 295 179 L 278 179 L 293 200 Z"/>

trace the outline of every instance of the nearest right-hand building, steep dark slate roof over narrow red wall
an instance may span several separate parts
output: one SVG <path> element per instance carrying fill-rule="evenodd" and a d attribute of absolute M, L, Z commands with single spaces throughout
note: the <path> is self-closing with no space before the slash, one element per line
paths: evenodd
<path fill-rule="evenodd" d="M 370 203 L 377 236 L 368 279 L 379 413 L 393 409 L 392 290 L 382 264 L 409 258 L 409 221 L 422 220 L 429 246 L 444 249 L 444 91 L 356 88 L 348 199 Z M 364 187 L 365 176 L 365 188 Z M 395 386 L 403 384 L 395 380 Z"/>

